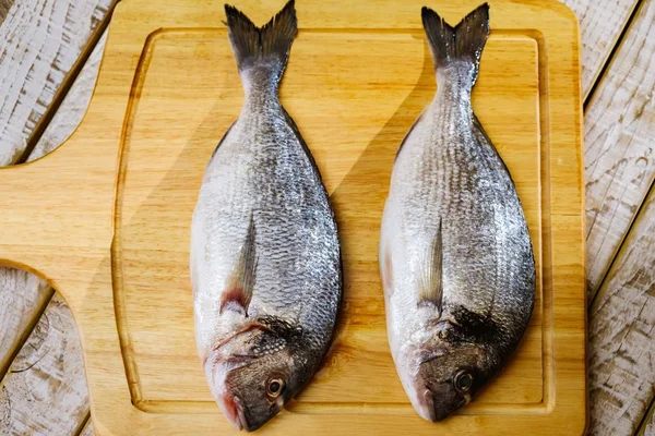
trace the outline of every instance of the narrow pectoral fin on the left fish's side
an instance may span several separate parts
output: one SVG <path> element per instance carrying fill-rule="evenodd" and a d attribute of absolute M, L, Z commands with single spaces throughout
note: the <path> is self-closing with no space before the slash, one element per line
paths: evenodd
<path fill-rule="evenodd" d="M 241 245 L 239 263 L 228 280 L 227 289 L 221 298 L 221 313 L 225 310 L 230 310 L 248 316 L 248 306 L 250 305 L 250 300 L 252 300 L 258 261 L 254 243 L 254 220 L 251 214 L 246 240 L 243 241 L 243 245 Z"/>

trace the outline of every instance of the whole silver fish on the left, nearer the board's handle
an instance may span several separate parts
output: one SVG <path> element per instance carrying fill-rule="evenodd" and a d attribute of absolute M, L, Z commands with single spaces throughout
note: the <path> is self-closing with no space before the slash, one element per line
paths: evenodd
<path fill-rule="evenodd" d="M 211 157 L 193 209 L 198 355 L 235 428 L 252 432 L 310 382 L 342 300 L 334 210 L 279 84 L 298 32 L 294 1 L 258 27 L 225 4 L 243 105 Z"/>

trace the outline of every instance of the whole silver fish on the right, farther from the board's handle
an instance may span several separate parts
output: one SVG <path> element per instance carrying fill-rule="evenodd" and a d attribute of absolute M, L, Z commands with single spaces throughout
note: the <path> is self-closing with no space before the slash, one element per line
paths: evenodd
<path fill-rule="evenodd" d="M 396 152 L 378 258 L 398 378 L 438 422 L 511 359 L 534 310 L 535 261 L 513 179 L 471 101 L 489 5 L 454 27 L 428 7 L 421 19 L 437 92 Z"/>

